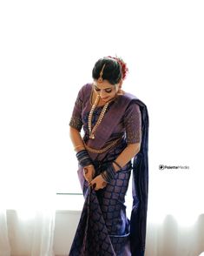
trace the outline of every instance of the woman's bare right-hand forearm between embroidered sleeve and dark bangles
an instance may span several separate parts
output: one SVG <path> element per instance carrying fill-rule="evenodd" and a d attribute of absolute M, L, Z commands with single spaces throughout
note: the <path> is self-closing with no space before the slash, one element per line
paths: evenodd
<path fill-rule="evenodd" d="M 121 152 L 121 154 L 115 159 L 118 165 L 122 167 L 128 163 L 139 151 L 141 148 L 141 143 L 128 144 L 127 147 Z M 113 163 L 115 171 L 119 171 L 120 168 Z"/>

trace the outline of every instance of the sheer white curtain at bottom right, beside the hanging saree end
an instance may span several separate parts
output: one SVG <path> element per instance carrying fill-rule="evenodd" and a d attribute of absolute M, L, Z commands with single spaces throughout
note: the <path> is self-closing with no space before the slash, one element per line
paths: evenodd
<path fill-rule="evenodd" d="M 204 252 L 204 214 L 181 225 L 174 215 L 161 224 L 148 222 L 146 256 L 198 256 Z"/>

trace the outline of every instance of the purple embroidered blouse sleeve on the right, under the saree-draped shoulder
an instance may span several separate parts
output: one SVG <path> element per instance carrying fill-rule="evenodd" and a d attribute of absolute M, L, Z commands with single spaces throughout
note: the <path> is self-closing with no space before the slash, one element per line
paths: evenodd
<path fill-rule="evenodd" d="M 125 111 L 124 125 L 127 144 L 141 143 L 141 111 L 138 104 L 130 104 Z"/>

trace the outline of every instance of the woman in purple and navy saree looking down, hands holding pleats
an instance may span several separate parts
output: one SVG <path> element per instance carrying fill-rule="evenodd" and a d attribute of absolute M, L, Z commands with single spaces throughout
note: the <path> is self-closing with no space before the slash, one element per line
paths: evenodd
<path fill-rule="evenodd" d="M 127 71 L 118 57 L 99 59 L 93 83 L 83 85 L 76 98 L 70 138 L 85 202 L 70 256 L 144 254 L 148 111 L 138 98 L 122 91 Z M 124 203 L 131 170 L 134 201 L 128 220 Z"/>

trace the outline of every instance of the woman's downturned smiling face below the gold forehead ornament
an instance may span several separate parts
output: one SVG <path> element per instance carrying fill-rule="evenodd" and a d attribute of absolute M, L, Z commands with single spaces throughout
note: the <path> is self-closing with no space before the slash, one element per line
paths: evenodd
<path fill-rule="evenodd" d="M 102 98 L 102 101 L 108 102 L 112 98 L 115 98 L 119 84 L 109 84 L 108 80 L 102 80 L 102 83 L 98 83 L 97 80 L 94 80 L 93 87 L 95 93 L 99 94 L 100 98 Z"/>

